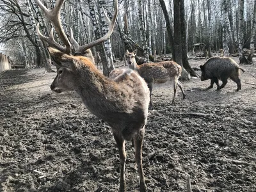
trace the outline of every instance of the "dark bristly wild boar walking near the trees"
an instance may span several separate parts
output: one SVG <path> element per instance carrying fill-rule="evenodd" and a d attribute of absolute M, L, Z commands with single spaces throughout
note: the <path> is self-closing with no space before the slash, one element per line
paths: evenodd
<path fill-rule="evenodd" d="M 211 85 L 207 89 L 211 89 L 216 83 L 217 90 L 220 90 L 228 83 L 228 78 L 232 79 L 237 84 L 237 90 L 241 90 L 241 79 L 239 78 L 239 69 L 244 72 L 244 69 L 239 67 L 236 61 L 231 58 L 212 57 L 207 60 L 204 65 L 200 65 L 202 75 L 201 81 L 211 79 Z M 219 80 L 222 81 L 220 86 Z"/>

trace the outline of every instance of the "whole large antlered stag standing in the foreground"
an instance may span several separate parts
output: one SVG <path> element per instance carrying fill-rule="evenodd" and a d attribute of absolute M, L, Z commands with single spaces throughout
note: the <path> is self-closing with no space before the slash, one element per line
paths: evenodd
<path fill-rule="evenodd" d="M 140 174 L 140 191 L 147 191 L 142 166 L 142 145 L 147 123 L 148 105 L 150 102 L 147 83 L 136 72 L 129 68 L 112 70 L 109 77 L 97 70 L 92 60 L 83 56 L 84 51 L 99 45 L 111 36 L 118 15 L 118 2 L 115 0 L 113 19 L 108 20 L 109 31 L 101 38 L 85 45 L 76 46 L 76 54 L 71 54 L 72 44 L 63 30 L 60 20 L 60 10 L 65 0 L 57 0 L 52 10 L 47 9 L 40 0 L 35 0 L 43 10 L 45 17 L 54 26 L 63 45 L 50 36 L 40 32 L 39 24 L 36 31 L 40 39 L 49 44 L 48 50 L 60 68 L 51 84 L 51 90 L 56 93 L 76 91 L 86 108 L 93 115 L 109 124 L 119 151 L 120 185 L 119 191 L 127 191 L 125 183 L 125 141 L 134 142 L 135 160 Z M 74 48 L 74 47 L 73 47 Z"/>

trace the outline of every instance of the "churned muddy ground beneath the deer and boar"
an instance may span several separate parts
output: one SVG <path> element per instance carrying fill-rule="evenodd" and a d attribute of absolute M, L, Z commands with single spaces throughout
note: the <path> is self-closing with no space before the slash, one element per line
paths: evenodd
<path fill-rule="evenodd" d="M 237 58 L 235 59 L 237 61 Z M 189 60 L 198 67 L 205 60 Z M 256 63 L 256 62 L 255 62 Z M 187 95 L 154 84 L 143 144 L 148 191 L 256 191 L 256 65 L 216 92 L 183 82 Z M 74 92 L 56 94 L 44 69 L 0 74 L 0 191 L 118 191 L 111 129 Z M 254 86 L 256 87 L 256 86 Z M 138 191 L 134 148 L 126 143 L 128 191 Z"/>

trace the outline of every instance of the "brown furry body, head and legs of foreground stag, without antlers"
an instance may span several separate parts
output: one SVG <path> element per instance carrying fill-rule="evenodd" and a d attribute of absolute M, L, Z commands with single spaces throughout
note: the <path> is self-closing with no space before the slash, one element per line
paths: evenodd
<path fill-rule="evenodd" d="M 113 70 L 107 78 L 89 58 L 49 51 L 61 65 L 51 89 L 57 93 L 75 90 L 86 108 L 111 126 L 120 155 L 120 191 L 126 191 L 124 140 L 134 141 L 140 191 L 147 191 L 141 155 L 150 102 L 147 83 L 131 69 Z"/>

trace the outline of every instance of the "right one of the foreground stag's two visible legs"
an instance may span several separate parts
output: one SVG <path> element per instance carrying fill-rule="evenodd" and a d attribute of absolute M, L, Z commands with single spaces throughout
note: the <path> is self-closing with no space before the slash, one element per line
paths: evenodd
<path fill-rule="evenodd" d="M 147 186 L 145 183 L 143 168 L 142 168 L 142 144 L 145 133 L 145 125 L 143 129 L 140 129 L 137 134 L 134 135 L 134 148 L 135 148 L 135 160 L 138 166 L 138 171 L 140 173 L 140 192 L 147 191 Z"/>

